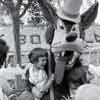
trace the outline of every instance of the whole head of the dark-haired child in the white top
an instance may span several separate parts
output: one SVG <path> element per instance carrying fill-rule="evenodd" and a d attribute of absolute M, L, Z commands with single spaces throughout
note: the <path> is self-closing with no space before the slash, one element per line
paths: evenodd
<path fill-rule="evenodd" d="M 47 63 L 48 53 L 43 48 L 34 48 L 28 55 L 32 64 L 37 64 L 37 67 L 44 67 Z"/>

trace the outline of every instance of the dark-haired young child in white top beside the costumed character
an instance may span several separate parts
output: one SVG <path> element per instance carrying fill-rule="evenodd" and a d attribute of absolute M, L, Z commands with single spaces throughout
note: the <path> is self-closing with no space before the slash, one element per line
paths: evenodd
<path fill-rule="evenodd" d="M 42 99 L 54 80 L 54 74 L 48 78 L 47 56 L 47 51 L 42 48 L 35 48 L 29 54 L 32 66 L 27 70 L 26 78 L 28 90 L 32 92 L 34 100 Z"/>

